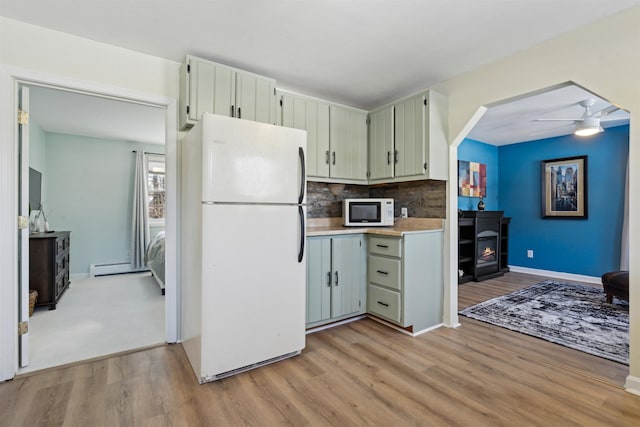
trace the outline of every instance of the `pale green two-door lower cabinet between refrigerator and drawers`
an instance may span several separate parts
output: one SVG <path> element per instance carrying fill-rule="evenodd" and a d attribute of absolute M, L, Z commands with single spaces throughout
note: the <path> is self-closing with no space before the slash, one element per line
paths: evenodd
<path fill-rule="evenodd" d="M 307 327 L 366 311 L 364 235 L 307 239 Z"/>

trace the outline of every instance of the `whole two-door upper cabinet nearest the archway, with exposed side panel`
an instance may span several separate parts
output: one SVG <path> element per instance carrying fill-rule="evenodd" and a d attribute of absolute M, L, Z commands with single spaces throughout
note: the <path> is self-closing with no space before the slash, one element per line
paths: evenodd
<path fill-rule="evenodd" d="M 393 111 L 388 129 L 388 110 Z M 382 115 L 382 117 L 381 117 Z M 369 171 L 371 183 L 448 179 L 447 98 L 428 90 L 370 114 Z M 385 133 L 385 143 L 380 132 Z M 392 137 L 389 138 L 389 132 Z M 391 139 L 391 143 L 387 142 Z M 391 149 L 389 147 L 392 147 Z M 374 151 L 375 153 L 371 152 Z M 389 155 L 391 152 L 391 155 Z M 388 164 L 389 160 L 391 165 Z"/>

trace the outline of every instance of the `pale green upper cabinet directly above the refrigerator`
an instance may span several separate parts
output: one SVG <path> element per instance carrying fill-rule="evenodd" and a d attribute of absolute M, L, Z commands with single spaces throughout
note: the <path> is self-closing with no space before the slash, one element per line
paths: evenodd
<path fill-rule="evenodd" d="M 187 55 L 180 73 L 180 127 L 203 113 L 275 123 L 276 81 Z"/>

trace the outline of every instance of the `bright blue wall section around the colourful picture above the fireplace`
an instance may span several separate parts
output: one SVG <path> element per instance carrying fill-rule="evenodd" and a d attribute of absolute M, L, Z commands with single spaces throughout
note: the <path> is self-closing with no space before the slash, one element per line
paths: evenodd
<path fill-rule="evenodd" d="M 498 210 L 498 147 L 473 139 L 465 139 L 458 146 L 458 160 L 484 163 L 487 165 L 487 197 L 483 199 L 485 210 Z M 456 186 L 458 183 L 456 183 Z M 478 210 L 478 197 L 458 196 L 458 209 Z"/>

